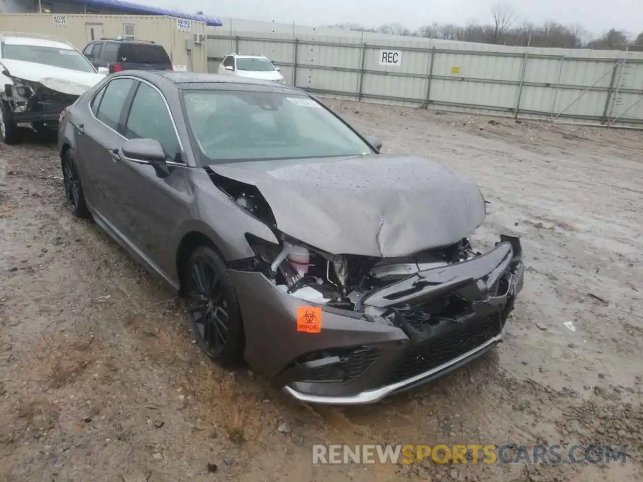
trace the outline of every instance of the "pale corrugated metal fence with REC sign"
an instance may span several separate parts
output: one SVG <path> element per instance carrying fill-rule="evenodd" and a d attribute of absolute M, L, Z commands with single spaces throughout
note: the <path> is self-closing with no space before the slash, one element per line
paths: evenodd
<path fill-rule="evenodd" d="M 260 53 L 325 96 L 643 128 L 640 52 L 221 33 L 208 35 L 210 72 L 227 53 Z"/>

